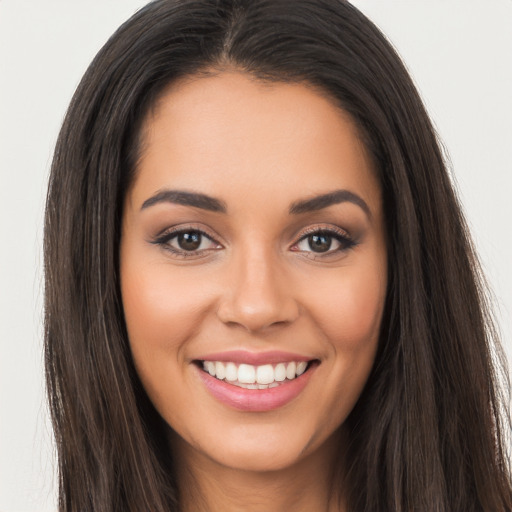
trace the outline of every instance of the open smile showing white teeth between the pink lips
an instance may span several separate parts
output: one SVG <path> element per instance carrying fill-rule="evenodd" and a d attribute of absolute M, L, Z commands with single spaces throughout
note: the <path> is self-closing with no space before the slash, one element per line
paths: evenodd
<path fill-rule="evenodd" d="M 224 361 L 198 361 L 203 371 L 217 380 L 244 389 L 276 388 L 307 372 L 315 361 L 291 361 L 254 366 Z"/>

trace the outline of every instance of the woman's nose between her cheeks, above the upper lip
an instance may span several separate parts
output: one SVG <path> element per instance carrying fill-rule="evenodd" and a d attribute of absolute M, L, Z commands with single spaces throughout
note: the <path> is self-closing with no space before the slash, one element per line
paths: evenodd
<path fill-rule="evenodd" d="M 251 251 L 230 262 L 217 310 L 223 323 L 254 333 L 298 318 L 300 308 L 291 280 L 276 259 L 263 251 Z"/>

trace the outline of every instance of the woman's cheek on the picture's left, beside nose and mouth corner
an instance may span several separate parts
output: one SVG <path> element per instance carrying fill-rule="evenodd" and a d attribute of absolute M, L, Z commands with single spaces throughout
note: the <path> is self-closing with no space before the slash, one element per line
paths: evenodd
<path fill-rule="evenodd" d="M 128 339 L 139 378 L 155 407 L 169 422 L 187 407 L 186 346 L 201 329 L 205 287 L 165 262 L 131 257 L 121 267 L 121 293 Z"/>

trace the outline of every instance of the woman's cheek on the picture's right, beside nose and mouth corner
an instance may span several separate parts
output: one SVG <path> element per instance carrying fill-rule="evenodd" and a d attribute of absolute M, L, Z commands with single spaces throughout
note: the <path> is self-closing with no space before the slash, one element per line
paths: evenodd
<path fill-rule="evenodd" d="M 331 276 L 332 277 L 332 276 Z M 324 393 L 320 410 L 329 411 L 323 428 L 342 424 L 359 399 L 374 364 L 386 294 L 385 270 L 343 272 L 317 283 L 311 296 L 319 338 L 326 347 Z"/>

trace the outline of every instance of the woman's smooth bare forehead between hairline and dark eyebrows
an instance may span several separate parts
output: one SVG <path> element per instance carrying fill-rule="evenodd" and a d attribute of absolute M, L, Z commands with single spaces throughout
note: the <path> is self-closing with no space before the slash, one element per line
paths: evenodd
<path fill-rule="evenodd" d="M 206 189 L 228 203 L 357 189 L 379 203 L 372 161 L 351 118 L 303 83 L 225 72 L 173 84 L 143 126 L 132 199 Z M 376 206 L 377 207 L 377 206 Z"/>

